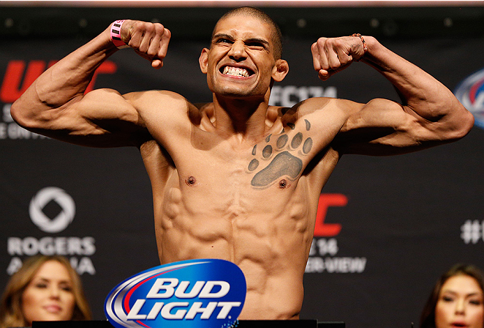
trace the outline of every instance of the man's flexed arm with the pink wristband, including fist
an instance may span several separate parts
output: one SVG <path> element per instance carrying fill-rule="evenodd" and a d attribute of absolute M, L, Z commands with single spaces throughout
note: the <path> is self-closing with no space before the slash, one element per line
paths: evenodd
<path fill-rule="evenodd" d="M 170 33 L 161 24 L 127 20 L 123 41 L 160 68 Z M 13 103 L 13 119 L 35 133 L 93 147 L 133 144 L 144 127 L 130 95 L 98 89 L 84 95 L 94 71 L 116 52 L 109 28 L 46 70 Z"/>

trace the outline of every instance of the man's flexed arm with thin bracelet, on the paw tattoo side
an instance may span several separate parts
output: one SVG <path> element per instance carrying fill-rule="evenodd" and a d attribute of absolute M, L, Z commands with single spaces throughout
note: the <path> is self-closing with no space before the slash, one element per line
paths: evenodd
<path fill-rule="evenodd" d="M 402 103 L 374 99 L 347 106 L 348 119 L 335 144 L 342 153 L 402 154 L 464 137 L 474 117 L 450 90 L 421 68 L 364 36 L 368 52 L 356 36 L 320 38 L 312 45 L 313 64 L 326 80 L 352 61 L 377 69 L 398 90 Z"/>

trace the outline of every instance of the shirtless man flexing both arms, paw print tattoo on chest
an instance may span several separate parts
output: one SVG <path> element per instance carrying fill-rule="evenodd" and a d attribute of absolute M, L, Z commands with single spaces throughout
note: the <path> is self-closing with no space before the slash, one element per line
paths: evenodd
<path fill-rule="evenodd" d="M 121 27 L 122 40 L 155 68 L 169 37 L 161 24 Z M 464 137 L 474 124 L 444 85 L 370 36 L 319 38 L 311 48 L 315 70 L 326 80 L 361 60 L 398 89 L 402 104 L 311 98 L 269 106 L 273 82 L 289 68 L 278 28 L 254 8 L 222 17 L 202 50 L 213 103 L 194 105 L 169 91 L 84 95 L 116 50 L 108 28 L 43 73 L 12 116 L 66 142 L 138 147 L 153 189 L 160 262 L 237 264 L 247 280 L 243 320 L 299 317 L 319 194 L 343 154 L 425 149 Z"/>

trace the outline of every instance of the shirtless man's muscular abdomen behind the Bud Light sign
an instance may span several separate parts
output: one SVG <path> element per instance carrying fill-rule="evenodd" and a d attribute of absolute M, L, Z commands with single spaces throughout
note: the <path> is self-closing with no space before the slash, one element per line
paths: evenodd
<path fill-rule="evenodd" d="M 294 190 L 296 186 L 285 191 L 277 186 L 262 191 L 245 188 L 214 188 L 200 179 L 187 186 L 173 174 L 158 211 L 155 197 L 160 262 L 234 262 L 247 283 L 239 319 L 298 319 L 315 214 L 308 211 L 308 197 Z"/>

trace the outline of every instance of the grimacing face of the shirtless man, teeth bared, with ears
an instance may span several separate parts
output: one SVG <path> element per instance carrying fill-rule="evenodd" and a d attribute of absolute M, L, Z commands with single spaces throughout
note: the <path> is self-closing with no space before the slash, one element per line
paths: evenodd
<path fill-rule="evenodd" d="M 264 97 L 271 79 L 284 78 L 273 56 L 271 26 L 261 20 L 234 15 L 218 22 L 209 50 L 200 56 L 209 89 L 229 98 Z M 284 61 L 285 62 L 285 61 Z M 287 64 L 287 63 L 286 63 Z"/>

